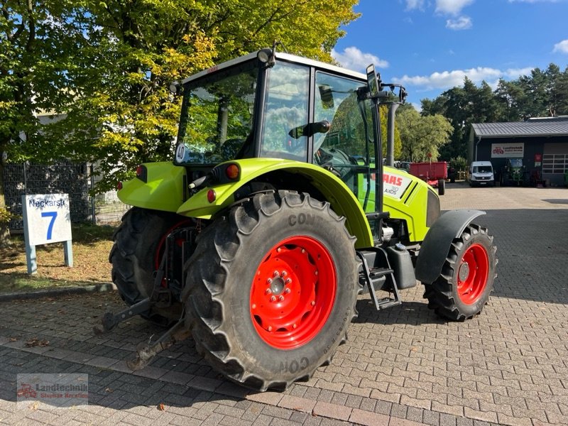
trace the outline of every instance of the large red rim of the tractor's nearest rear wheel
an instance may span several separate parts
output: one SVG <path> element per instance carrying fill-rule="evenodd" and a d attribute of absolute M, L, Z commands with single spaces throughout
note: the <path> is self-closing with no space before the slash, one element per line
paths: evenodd
<path fill-rule="evenodd" d="M 258 335 L 277 349 L 310 342 L 327 322 L 337 273 L 329 251 L 310 236 L 276 244 L 258 266 L 251 288 L 251 318 Z"/>

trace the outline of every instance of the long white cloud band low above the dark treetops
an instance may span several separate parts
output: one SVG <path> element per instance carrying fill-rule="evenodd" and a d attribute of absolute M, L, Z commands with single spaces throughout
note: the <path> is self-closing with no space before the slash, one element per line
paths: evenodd
<path fill-rule="evenodd" d="M 515 79 L 521 75 L 528 75 L 533 67 L 509 68 L 508 70 L 497 70 L 489 67 L 476 67 L 469 70 L 453 70 L 433 72 L 431 75 L 416 75 L 410 77 L 405 75 L 401 78 L 393 79 L 395 83 L 403 84 L 405 87 L 415 86 L 422 90 L 450 89 L 464 84 L 464 78 L 468 77 L 472 82 L 479 84 L 485 80 L 494 87 L 499 78 Z"/>

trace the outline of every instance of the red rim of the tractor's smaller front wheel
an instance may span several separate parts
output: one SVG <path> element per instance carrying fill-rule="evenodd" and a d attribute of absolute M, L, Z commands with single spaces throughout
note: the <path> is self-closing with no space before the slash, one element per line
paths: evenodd
<path fill-rule="evenodd" d="M 473 305 L 484 293 L 489 271 L 489 257 L 484 246 L 472 244 L 459 262 L 457 294 L 461 302 Z"/>

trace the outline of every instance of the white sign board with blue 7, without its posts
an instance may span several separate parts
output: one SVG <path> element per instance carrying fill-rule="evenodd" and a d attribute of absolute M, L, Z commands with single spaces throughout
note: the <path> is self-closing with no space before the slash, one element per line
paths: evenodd
<path fill-rule="evenodd" d="M 28 244 L 57 243 L 71 239 L 69 195 L 26 195 L 23 220 L 28 227 Z"/>

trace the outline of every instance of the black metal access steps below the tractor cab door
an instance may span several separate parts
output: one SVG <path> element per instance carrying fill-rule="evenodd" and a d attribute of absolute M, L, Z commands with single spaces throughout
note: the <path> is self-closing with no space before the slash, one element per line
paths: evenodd
<path fill-rule="evenodd" d="M 400 305 L 400 296 L 398 295 L 394 271 L 388 262 L 386 250 L 381 247 L 373 247 L 372 249 L 366 249 L 366 251 L 357 251 L 356 253 L 361 259 L 361 263 L 363 263 L 361 275 L 367 285 L 368 293 L 371 295 L 376 309 L 383 310 L 388 307 Z M 371 253 L 372 256 L 369 256 Z M 373 259 L 373 268 L 369 268 L 367 259 Z M 377 263 L 381 266 L 376 266 Z M 392 289 L 390 290 L 392 290 L 394 298 L 383 297 L 382 299 L 377 299 L 375 285 L 381 285 L 381 288 L 378 288 L 378 290 L 382 290 L 387 277 L 391 279 Z"/>

